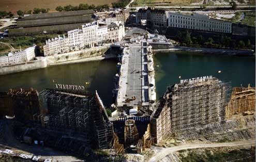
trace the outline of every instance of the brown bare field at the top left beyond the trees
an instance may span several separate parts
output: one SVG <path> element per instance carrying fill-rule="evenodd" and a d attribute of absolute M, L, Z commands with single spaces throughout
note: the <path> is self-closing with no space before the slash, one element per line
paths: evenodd
<path fill-rule="evenodd" d="M 11 1 L 1 1 L 0 11 L 11 11 L 14 14 L 17 14 L 17 10 L 33 10 L 33 8 L 49 8 L 50 12 L 55 11 L 57 6 L 66 6 L 66 5 L 79 5 L 80 3 L 88 5 L 111 5 L 112 2 L 117 2 L 118 0 L 11 0 Z"/>

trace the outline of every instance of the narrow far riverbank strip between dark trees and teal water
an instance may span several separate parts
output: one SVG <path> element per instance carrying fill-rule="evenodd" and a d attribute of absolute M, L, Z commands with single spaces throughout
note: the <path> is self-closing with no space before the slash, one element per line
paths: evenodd
<path fill-rule="evenodd" d="M 208 53 L 208 54 L 225 54 L 225 55 L 241 55 L 241 56 L 253 56 L 253 53 L 250 50 L 230 50 L 230 49 L 219 49 L 219 48 L 195 48 L 195 47 L 186 47 L 186 46 L 172 46 L 169 49 L 163 50 L 153 50 L 154 53 L 164 53 L 164 52 L 176 52 L 176 51 L 185 51 L 185 52 L 196 52 L 196 53 Z"/>

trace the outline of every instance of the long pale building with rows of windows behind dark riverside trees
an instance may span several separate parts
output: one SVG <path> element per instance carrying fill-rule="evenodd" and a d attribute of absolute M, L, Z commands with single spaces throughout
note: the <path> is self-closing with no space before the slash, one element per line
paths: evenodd
<path fill-rule="evenodd" d="M 207 15 L 193 13 L 191 15 L 168 12 L 168 27 L 178 27 L 218 33 L 232 33 L 232 23 L 210 19 Z"/>

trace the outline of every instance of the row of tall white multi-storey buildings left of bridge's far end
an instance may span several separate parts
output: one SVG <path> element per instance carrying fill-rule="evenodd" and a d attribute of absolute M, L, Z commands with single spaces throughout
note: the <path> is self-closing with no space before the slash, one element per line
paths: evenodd
<path fill-rule="evenodd" d="M 47 40 L 46 45 L 43 46 L 44 56 L 94 47 L 107 40 L 120 41 L 124 35 L 124 22 L 114 22 L 108 26 L 99 26 L 98 22 L 87 23 L 82 25 L 81 29 L 68 31 L 68 37 L 63 36 Z"/>

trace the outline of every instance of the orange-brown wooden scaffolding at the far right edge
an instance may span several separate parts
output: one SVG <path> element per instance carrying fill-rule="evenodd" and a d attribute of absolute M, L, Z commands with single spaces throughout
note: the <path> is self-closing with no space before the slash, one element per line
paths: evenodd
<path fill-rule="evenodd" d="M 232 115 L 245 111 L 255 111 L 255 87 L 250 87 L 250 85 L 248 88 L 233 88 L 226 108 L 226 118 L 230 119 Z"/>

